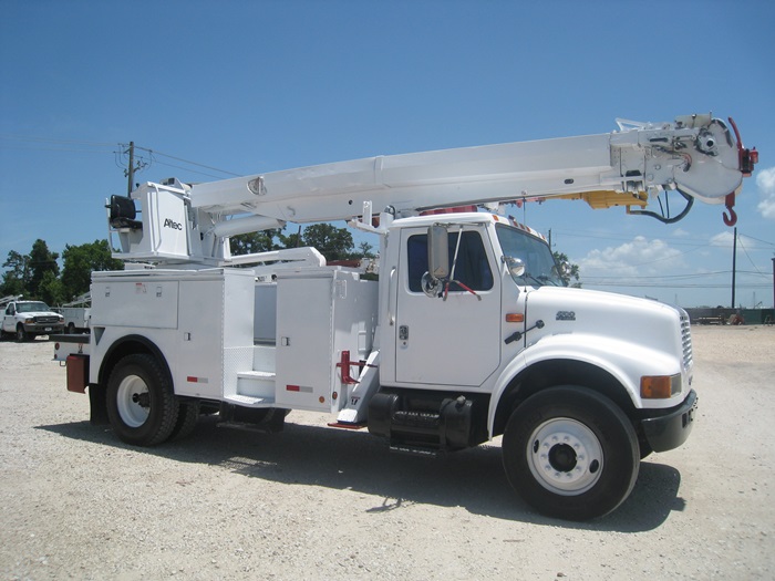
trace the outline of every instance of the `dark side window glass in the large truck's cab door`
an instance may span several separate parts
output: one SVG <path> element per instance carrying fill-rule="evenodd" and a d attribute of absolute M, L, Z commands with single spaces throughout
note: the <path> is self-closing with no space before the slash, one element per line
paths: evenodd
<path fill-rule="evenodd" d="M 472 290 L 485 291 L 493 288 L 493 271 L 489 268 L 487 252 L 482 236 L 475 231 L 464 231 L 455 261 L 458 232 L 450 236 L 450 266 L 454 262 L 452 278 Z M 409 264 L 409 289 L 422 292 L 421 279 L 427 272 L 427 235 L 418 234 L 409 238 L 406 243 Z M 450 292 L 463 291 L 459 284 L 450 284 Z"/>

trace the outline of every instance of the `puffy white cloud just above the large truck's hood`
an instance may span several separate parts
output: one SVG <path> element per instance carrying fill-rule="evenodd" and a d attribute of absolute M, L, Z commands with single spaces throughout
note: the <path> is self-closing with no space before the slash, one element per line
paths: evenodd
<path fill-rule="evenodd" d="M 662 276 L 683 268 L 683 252 L 670 248 L 663 240 L 637 236 L 631 242 L 614 248 L 592 250 L 578 261 L 581 277 Z"/>

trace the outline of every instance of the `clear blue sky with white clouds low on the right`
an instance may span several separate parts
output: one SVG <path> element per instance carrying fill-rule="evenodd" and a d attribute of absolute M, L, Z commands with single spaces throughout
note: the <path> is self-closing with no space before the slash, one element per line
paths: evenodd
<path fill-rule="evenodd" d="M 761 152 L 736 206 L 735 302 L 772 307 L 773 22 L 756 0 L 0 0 L 0 259 L 104 238 L 130 141 L 156 152 L 136 180 L 209 181 L 713 112 Z M 722 210 L 514 215 L 551 230 L 585 287 L 695 307 L 731 301 Z"/>

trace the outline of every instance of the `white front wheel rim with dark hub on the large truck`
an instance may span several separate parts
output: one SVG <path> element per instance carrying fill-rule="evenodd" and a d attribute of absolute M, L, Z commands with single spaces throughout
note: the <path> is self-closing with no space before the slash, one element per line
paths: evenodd
<path fill-rule="evenodd" d="M 600 479 L 600 440 L 586 425 L 561 417 L 539 425 L 528 440 L 530 473 L 547 490 L 561 496 L 586 492 Z"/>

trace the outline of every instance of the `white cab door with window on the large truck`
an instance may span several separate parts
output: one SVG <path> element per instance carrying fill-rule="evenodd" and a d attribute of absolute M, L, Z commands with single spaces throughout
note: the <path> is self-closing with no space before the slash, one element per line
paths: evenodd
<path fill-rule="evenodd" d="M 487 232 L 466 225 L 452 228 L 448 238 L 456 282 L 428 297 L 422 288 L 427 229 L 401 232 L 394 328 L 399 383 L 478 387 L 500 363 L 500 280 Z"/>

